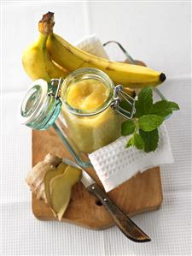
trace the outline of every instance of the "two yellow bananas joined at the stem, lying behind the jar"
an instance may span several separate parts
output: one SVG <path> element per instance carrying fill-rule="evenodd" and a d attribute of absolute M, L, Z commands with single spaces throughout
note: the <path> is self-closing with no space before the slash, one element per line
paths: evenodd
<path fill-rule="evenodd" d="M 98 68 L 108 74 L 114 84 L 125 87 L 158 86 L 166 80 L 165 74 L 151 68 L 111 62 L 82 51 L 53 33 L 54 24 L 53 13 L 44 15 L 38 23 L 40 32 L 38 43 L 24 53 L 23 65 L 32 79 L 49 80 L 66 77 L 67 72 L 70 73 L 78 68 Z"/>

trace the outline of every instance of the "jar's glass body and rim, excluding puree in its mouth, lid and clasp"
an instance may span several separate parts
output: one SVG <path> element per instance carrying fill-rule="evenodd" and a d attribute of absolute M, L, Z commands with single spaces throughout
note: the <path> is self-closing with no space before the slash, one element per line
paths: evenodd
<path fill-rule="evenodd" d="M 113 82 L 100 70 L 90 68 L 89 73 L 89 68 L 84 69 L 73 72 L 67 77 L 67 80 L 63 81 L 60 92 L 63 103 L 61 116 L 63 116 L 67 124 L 68 133 L 75 145 L 78 146 L 81 152 L 90 153 L 119 138 L 122 116 L 110 107 L 110 103 L 113 100 Z M 70 91 L 71 86 L 74 83 L 80 86 L 82 83 L 79 82 L 82 82 L 82 80 L 91 80 L 93 83 L 94 80 L 101 81 L 106 86 L 108 98 L 99 108 L 79 110 L 74 109 L 67 102 L 67 93 Z M 96 88 L 96 90 L 99 89 Z M 97 97 L 100 97 L 99 92 Z"/>

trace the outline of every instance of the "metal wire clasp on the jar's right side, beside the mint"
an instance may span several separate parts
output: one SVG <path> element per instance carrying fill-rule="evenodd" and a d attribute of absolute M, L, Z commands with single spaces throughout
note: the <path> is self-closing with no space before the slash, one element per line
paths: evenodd
<path fill-rule="evenodd" d="M 125 110 L 119 105 L 122 98 L 125 99 L 125 102 L 130 106 L 130 110 Z M 121 85 L 115 86 L 114 88 L 114 96 L 111 107 L 114 111 L 127 119 L 131 119 L 132 116 L 136 113 L 135 99 L 127 93 L 123 92 L 123 86 Z"/>

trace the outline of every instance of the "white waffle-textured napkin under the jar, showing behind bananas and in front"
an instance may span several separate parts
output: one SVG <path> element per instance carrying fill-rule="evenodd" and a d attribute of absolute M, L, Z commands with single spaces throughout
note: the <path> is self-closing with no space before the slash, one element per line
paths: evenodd
<path fill-rule="evenodd" d="M 84 38 L 77 46 L 91 54 L 108 58 L 96 35 Z M 173 163 L 172 149 L 165 125 L 161 125 L 159 134 L 158 148 L 154 152 L 146 153 L 137 150 L 136 147 L 125 148 L 129 139 L 127 136 L 120 137 L 89 155 L 90 162 L 106 192 L 118 187 L 139 171 L 143 172 L 153 166 Z"/>

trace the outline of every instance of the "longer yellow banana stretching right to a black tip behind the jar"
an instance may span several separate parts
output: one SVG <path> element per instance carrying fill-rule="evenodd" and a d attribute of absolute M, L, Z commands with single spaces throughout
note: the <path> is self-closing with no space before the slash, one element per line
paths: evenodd
<path fill-rule="evenodd" d="M 52 14 L 52 19 L 53 19 Z M 108 74 L 114 84 L 121 84 L 131 88 L 141 88 L 143 86 L 158 86 L 166 75 L 151 68 L 131 65 L 128 63 L 110 62 L 107 59 L 96 57 L 70 45 L 65 39 L 53 33 L 49 23 L 49 37 L 46 47 L 50 57 L 61 67 L 73 71 L 78 68 L 98 68 Z"/>

